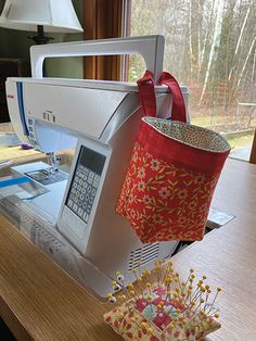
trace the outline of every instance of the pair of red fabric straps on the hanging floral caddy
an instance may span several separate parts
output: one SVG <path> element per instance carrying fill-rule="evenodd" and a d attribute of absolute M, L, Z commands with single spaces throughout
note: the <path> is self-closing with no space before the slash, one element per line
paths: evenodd
<path fill-rule="evenodd" d="M 139 87 L 139 99 L 146 116 L 156 116 L 155 88 L 151 72 L 146 71 L 144 76 L 137 80 Z M 185 105 L 178 81 L 172 75 L 163 72 L 158 81 L 166 85 L 172 96 L 171 119 L 187 122 Z"/>

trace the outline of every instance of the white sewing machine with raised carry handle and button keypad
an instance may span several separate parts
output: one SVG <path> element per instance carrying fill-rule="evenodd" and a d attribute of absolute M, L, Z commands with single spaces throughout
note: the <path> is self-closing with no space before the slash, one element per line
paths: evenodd
<path fill-rule="evenodd" d="M 23 190 L 15 197 L 21 210 L 42 225 L 26 218 L 26 233 L 53 258 L 56 243 L 59 254 L 60 243 L 72 250 L 82 283 L 101 296 L 110 291 L 108 278 L 115 278 L 116 270 L 128 282 L 139 261 L 152 268 L 154 261 L 171 255 L 177 242 L 142 244 L 115 212 L 143 116 L 137 85 L 42 78 L 42 63 L 44 58 L 130 53 L 143 56 L 156 81 L 163 67 L 162 36 L 36 46 L 30 51 L 33 77 L 7 80 L 10 117 L 21 141 L 48 154 L 76 146 L 69 176 L 56 169 L 53 154 L 51 169 L 41 162 L 13 167 L 15 176 L 26 176 L 30 187 L 41 189 L 31 198 Z M 187 102 L 187 88 L 182 92 Z M 156 87 L 156 99 L 158 115 L 170 115 L 166 87 Z M 51 235 L 47 241 L 46 233 Z"/>

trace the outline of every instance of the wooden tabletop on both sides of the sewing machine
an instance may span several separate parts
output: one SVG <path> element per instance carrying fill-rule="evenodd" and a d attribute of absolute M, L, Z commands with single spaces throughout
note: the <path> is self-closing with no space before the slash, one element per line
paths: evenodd
<path fill-rule="evenodd" d="M 213 287 L 222 328 L 207 340 L 256 340 L 256 166 L 229 160 L 214 207 L 236 217 L 174 257 L 181 274 L 194 267 Z M 1 216 L 0 315 L 18 340 L 119 340 L 97 302 Z"/>

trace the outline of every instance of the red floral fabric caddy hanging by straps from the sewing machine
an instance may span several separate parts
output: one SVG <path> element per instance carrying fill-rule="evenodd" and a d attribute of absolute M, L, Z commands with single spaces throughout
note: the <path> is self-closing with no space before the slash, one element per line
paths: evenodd
<path fill-rule="evenodd" d="M 217 132 L 187 123 L 177 80 L 163 73 L 159 84 L 172 96 L 171 121 L 155 117 L 149 72 L 138 81 L 144 113 L 116 211 L 143 243 L 201 240 L 229 143 Z"/>

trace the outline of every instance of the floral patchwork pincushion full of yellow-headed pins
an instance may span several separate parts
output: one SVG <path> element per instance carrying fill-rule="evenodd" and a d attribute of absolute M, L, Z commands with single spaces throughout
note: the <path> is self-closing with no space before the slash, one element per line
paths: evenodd
<path fill-rule="evenodd" d="M 135 271 L 136 273 L 136 271 Z M 139 270 L 140 273 L 140 270 Z M 210 288 L 204 283 L 205 276 L 194 287 L 194 271 L 184 282 L 180 282 L 179 274 L 174 271 L 172 263 L 163 269 L 155 266 L 157 282 L 149 282 L 150 274 L 137 275 L 137 285 L 123 287 L 124 276 L 117 274 L 113 282 L 114 291 L 124 289 L 117 299 L 110 293 L 110 301 L 123 304 L 104 315 L 104 319 L 125 340 L 167 341 L 201 340 L 209 332 L 220 328 L 218 313 L 214 303 L 219 288 L 213 299 Z M 142 289 L 144 287 L 146 289 Z M 125 294 L 126 293 L 126 294 Z"/>

